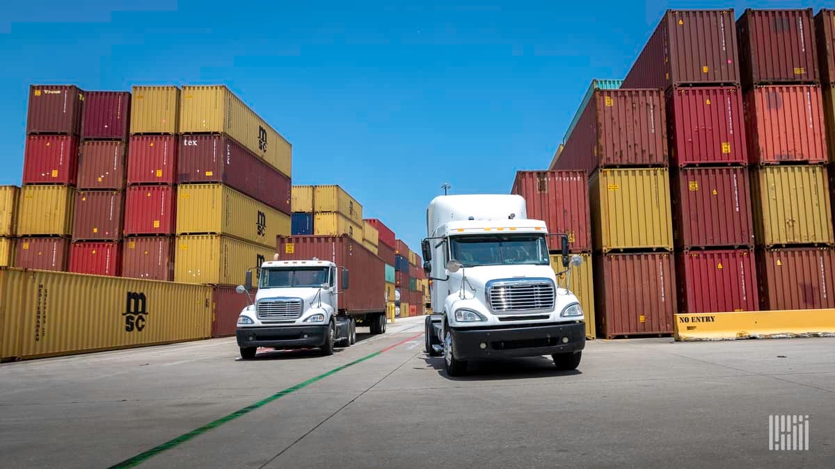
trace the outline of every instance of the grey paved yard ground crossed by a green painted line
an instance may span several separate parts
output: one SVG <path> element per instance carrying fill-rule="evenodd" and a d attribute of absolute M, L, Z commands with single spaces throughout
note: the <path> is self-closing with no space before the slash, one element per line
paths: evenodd
<path fill-rule="evenodd" d="M 835 339 L 595 340 L 579 371 L 534 357 L 450 379 L 442 359 L 423 353 L 422 332 L 423 318 L 398 320 L 329 357 L 240 361 L 234 339 L 217 339 L 0 365 L 0 467 L 134 456 L 147 467 L 832 467 L 835 458 Z M 808 451 L 769 451 L 778 414 L 809 416 Z"/>

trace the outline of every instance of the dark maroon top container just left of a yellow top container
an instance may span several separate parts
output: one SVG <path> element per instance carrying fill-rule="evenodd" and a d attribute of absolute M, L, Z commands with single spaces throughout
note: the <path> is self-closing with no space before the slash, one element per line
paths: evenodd
<path fill-rule="evenodd" d="M 84 95 L 82 139 L 127 140 L 130 93 L 89 91 Z"/>

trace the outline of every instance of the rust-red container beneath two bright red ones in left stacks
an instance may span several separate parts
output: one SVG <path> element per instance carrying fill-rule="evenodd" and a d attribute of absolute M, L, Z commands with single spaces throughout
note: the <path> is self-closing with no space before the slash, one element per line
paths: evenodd
<path fill-rule="evenodd" d="M 174 280 L 174 252 L 172 237 L 125 238 L 122 276 L 144 280 Z"/>

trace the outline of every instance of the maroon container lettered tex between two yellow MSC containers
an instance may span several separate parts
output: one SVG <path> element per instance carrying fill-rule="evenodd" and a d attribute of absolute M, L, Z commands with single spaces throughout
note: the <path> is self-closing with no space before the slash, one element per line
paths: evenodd
<path fill-rule="evenodd" d="M 222 183 L 290 214 L 291 182 L 225 135 L 180 135 L 177 181 Z"/>

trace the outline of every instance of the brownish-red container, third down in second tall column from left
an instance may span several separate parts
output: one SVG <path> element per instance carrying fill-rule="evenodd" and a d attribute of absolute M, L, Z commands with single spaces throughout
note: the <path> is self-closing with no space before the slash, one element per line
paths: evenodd
<path fill-rule="evenodd" d="M 124 194 L 121 192 L 76 192 L 73 241 L 121 240 L 122 209 L 124 209 Z"/>

